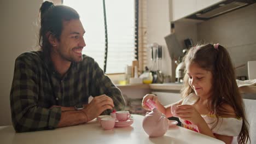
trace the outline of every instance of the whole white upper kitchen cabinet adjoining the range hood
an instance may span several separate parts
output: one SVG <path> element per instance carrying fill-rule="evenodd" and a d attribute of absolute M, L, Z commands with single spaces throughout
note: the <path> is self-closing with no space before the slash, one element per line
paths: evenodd
<path fill-rule="evenodd" d="M 176 21 L 223 0 L 169 0 L 170 20 Z"/>

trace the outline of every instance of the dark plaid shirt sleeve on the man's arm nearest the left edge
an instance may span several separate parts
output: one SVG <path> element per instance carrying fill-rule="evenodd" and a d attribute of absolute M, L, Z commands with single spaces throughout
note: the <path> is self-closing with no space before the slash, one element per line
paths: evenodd
<path fill-rule="evenodd" d="M 61 118 L 61 108 L 38 106 L 38 77 L 36 64 L 26 57 L 15 61 L 10 92 L 11 118 L 17 132 L 54 129 Z"/>

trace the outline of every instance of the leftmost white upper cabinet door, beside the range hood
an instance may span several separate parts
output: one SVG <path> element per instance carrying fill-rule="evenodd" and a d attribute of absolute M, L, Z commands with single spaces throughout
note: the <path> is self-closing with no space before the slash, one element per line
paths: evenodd
<path fill-rule="evenodd" d="M 172 21 L 188 16 L 196 11 L 196 0 L 172 0 Z"/>

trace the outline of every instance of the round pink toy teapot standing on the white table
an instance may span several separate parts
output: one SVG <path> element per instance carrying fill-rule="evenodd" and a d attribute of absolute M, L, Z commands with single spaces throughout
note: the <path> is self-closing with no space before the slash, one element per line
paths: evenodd
<path fill-rule="evenodd" d="M 142 127 L 150 137 L 163 136 L 169 128 L 168 119 L 156 107 L 143 119 Z"/>

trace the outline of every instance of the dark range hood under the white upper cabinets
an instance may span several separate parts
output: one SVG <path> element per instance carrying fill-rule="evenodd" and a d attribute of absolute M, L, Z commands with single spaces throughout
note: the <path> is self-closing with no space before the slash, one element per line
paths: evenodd
<path fill-rule="evenodd" d="M 197 11 L 196 13 L 185 17 L 186 19 L 209 20 L 213 17 L 228 13 L 230 11 L 246 7 L 255 3 L 254 0 L 226 0 L 220 1 L 210 7 Z"/>

